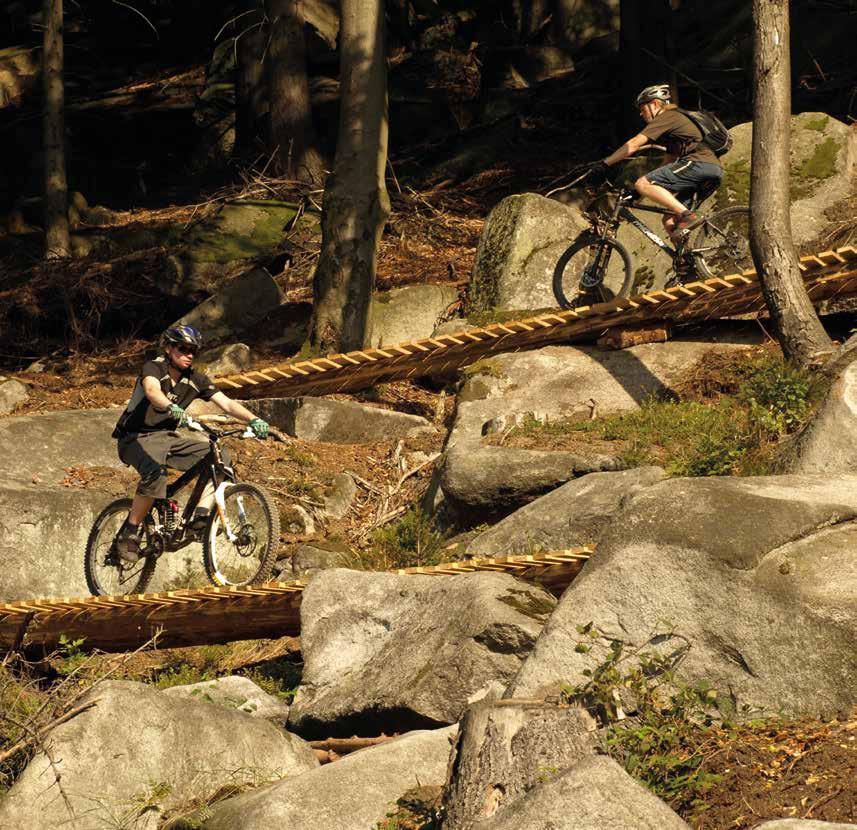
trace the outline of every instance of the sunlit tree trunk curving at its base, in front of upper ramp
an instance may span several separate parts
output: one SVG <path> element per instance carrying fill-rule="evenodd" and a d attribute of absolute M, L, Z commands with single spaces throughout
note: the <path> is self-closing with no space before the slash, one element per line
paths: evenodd
<path fill-rule="evenodd" d="M 806 293 L 789 214 L 791 68 L 788 0 L 753 0 L 750 247 L 786 358 L 811 367 L 832 351 Z"/>

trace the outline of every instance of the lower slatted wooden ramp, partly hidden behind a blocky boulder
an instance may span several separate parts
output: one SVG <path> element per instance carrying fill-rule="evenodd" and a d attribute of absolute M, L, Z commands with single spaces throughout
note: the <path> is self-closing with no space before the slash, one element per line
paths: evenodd
<path fill-rule="evenodd" d="M 592 554 L 591 547 L 525 556 L 479 557 L 392 571 L 451 576 L 509 573 L 559 596 Z M 122 597 L 24 600 L 0 604 L 0 650 L 50 651 L 65 634 L 83 648 L 129 651 L 157 635 L 161 648 L 297 636 L 301 581 L 248 588 L 200 588 Z"/>

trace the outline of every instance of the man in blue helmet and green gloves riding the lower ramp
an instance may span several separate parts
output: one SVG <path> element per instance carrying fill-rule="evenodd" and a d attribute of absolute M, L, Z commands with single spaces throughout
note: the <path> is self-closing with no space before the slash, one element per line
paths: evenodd
<path fill-rule="evenodd" d="M 140 523 L 155 499 L 166 498 L 167 468 L 189 470 L 209 451 L 208 441 L 182 436 L 187 407 L 197 398 L 212 401 L 227 415 L 249 424 L 257 438 L 266 438 L 268 424 L 249 409 L 219 392 L 201 372 L 193 369 L 202 335 L 193 326 L 173 326 L 161 336 L 164 354 L 143 364 L 140 377 L 113 437 L 118 439 L 120 460 L 134 467 L 140 483 L 131 510 L 116 535 L 116 549 L 125 562 L 140 558 Z M 223 460 L 229 464 L 224 450 Z M 191 527 L 202 529 L 214 501 L 209 485 L 194 513 Z"/>

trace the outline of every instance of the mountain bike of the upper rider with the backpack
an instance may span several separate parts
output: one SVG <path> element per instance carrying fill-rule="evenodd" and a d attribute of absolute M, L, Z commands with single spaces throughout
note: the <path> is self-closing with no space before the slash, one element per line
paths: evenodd
<path fill-rule="evenodd" d="M 695 194 L 691 209 L 696 210 L 708 195 Z M 616 239 L 623 222 L 633 225 L 653 245 L 670 255 L 673 276 L 667 282 L 667 288 L 693 280 L 740 273 L 753 267 L 748 207 L 736 206 L 707 215 L 699 214 L 699 224 L 679 242 L 670 244 L 631 213 L 631 208 L 661 215 L 670 215 L 672 211 L 640 204 L 638 199 L 637 192 L 627 188 L 609 186 L 598 193 L 594 204 L 606 202 L 609 208 L 606 211 L 592 208 L 587 211 L 592 229 L 572 243 L 554 269 L 553 293 L 562 308 L 574 308 L 585 302 L 605 302 L 613 297 L 630 297 L 634 293 L 631 255 Z M 615 294 L 604 285 L 611 263 L 618 263 L 622 275 L 622 285 Z"/>

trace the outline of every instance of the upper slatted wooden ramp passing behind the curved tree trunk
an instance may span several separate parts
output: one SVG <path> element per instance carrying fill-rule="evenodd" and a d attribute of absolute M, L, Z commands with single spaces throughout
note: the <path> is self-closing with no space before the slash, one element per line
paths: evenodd
<path fill-rule="evenodd" d="M 801 269 L 816 304 L 857 294 L 857 249 L 853 247 L 803 257 Z M 383 381 L 449 373 L 488 354 L 574 343 L 617 327 L 688 323 L 757 313 L 764 308 L 756 272 L 745 271 L 627 300 L 492 323 L 383 349 L 283 363 L 215 378 L 214 382 L 230 397 L 243 399 L 354 391 Z"/>

